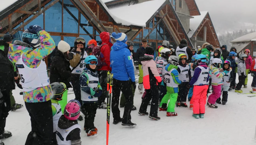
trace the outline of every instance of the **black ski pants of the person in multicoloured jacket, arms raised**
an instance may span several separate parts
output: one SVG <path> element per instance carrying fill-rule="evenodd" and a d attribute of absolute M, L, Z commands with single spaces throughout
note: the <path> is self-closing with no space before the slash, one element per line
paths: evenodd
<path fill-rule="evenodd" d="M 49 145 L 53 137 L 53 112 L 51 100 L 47 102 L 27 103 L 25 106 L 30 116 L 31 132 L 25 145 Z"/>

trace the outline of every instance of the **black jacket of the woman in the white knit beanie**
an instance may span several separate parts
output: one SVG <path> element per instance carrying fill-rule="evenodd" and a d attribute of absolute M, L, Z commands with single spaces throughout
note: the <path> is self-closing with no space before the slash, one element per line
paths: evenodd
<path fill-rule="evenodd" d="M 60 50 L 56 50 L 55 56 L 51 61 L 50 83 L 63 82 L 67 88 L 72 88 L 69 83 L 71 77 L 71 69 L 69 66 L 70 63 L 67 57 Z"/>

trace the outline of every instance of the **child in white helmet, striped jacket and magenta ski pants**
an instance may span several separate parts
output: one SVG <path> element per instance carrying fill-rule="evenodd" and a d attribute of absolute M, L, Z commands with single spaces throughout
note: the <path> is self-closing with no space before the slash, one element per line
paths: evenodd
<path fill-rule="evenodd" d="M 220 72 L 219 67 L 222 64 L 222 60 L 219 58 L 214 58 L 212 64 L 210 65 L 210 73 L 212 74 L 212 94 L 208 97 L 207 106 L 210 108 L 218 108 L 215 105 L 216 100 L 221 95 L 221 85 L 223 85 L 222 77 L 225 72 Z"/>

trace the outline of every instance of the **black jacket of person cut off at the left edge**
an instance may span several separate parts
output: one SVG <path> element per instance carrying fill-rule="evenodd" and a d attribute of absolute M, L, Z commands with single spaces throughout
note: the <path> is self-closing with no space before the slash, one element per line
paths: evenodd
<path fill-rule="evenodd" d="M 0 89 L 15 89 L 14 67 L 3 50 L 0 50 Z"/>

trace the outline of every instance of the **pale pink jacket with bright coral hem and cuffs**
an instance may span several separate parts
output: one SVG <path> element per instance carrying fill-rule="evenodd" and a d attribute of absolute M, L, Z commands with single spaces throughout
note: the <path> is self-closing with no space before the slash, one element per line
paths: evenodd
<path fill-rule="evenodd" d="M 149 69 L 154 75 L 157 82 L 162 81 L 160 75 L 158 74 L 155 61 L 153 59 L 154 59 L 153 55 L 147 55 L 147 54 L 145 54 L 145 56 L 143 57 L 140 57 L 142 68 L 143 68 L 143 86 L 145 89 L 150 89 L 150 83 L 154 81 L 154 78 L 149 78 L 150 76 Z"/>

